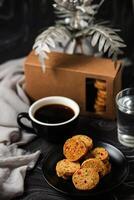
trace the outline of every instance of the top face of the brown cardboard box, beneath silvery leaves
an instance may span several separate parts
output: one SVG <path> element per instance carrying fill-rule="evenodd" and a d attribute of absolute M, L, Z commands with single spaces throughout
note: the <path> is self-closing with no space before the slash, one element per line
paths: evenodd
<path fill-rule="evenodd" d="M 98 58 L 85 55 L 69 55 L 64 53 L 51 52 L 48 54 L 49 59 L 45 61 L 46 68 L 53 68 L 53 70 L 68 70 L 79 73 L 90 73 L 90 75 L 103 74 L 103 77 L 114 78 L 117 74 L 121 62 L 118 61 L 115 67 L 115 63 L 111 59 Z M 27 65 L 33 65 L 34 67 L 40 67 L 38 56 L 34 54 L 34 51 L 30 53 L 26 60 Z"/>

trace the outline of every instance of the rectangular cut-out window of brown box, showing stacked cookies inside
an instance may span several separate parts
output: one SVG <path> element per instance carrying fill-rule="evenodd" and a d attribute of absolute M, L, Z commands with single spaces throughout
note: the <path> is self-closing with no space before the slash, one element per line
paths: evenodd
<path fill-rule="evenodd" d="M 106 112 L 106 81 L 86 78 L 86 111 L 96 114 Z"/>

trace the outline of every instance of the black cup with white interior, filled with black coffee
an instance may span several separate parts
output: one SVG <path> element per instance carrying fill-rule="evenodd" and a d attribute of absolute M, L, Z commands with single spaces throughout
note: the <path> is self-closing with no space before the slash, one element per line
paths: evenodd
<path fill-rule="evenodd" d="M 19 113 L 17 122 L 28 132 L 49 142 L 61 143 L 71 137 L 78 123 L 79 105 L 72 99 L 62 96 L 50 96 L 34 102 L 28 113 Z M 32 128 L 25 125 L 23 119 L 31 122 Z"/>

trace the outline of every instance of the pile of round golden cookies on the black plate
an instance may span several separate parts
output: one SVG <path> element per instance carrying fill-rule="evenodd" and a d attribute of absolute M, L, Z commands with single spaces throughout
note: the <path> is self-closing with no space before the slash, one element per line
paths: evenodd
<path fill-rule="evenodd" d="M 68 179 L 76 189 L 94 188 L 111 171 L 109 154 L 103 147 L 93 149 L 93 140 L 86 135 L 75 135 L 63 146 L 65 158 L 56 164 L 57 176 Z"/>

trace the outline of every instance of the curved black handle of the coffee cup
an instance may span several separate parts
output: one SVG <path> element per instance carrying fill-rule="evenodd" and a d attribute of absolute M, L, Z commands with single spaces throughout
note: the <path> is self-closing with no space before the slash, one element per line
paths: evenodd
<path fill-rule="evenodd" d="M 26 113 L 26 112 L 19 113 L 18 116 L 17 116 L 17 123 L 22 129 L 33 133 L 34 129 L 29 127 L 29 126 L 27 126 L 27 125 L 25 125 L 25 124 L 23 124 L 23 122 L 21 121 L 22 118 L 25 118 L 25 119 L 27 119 L 28 121 L 31 122 L 31 119 L 30 119 L 28 113 Z"/>

